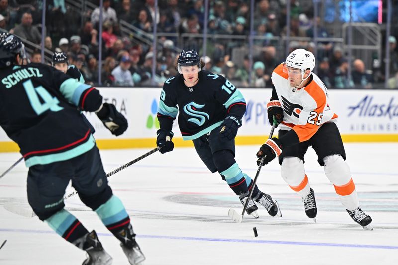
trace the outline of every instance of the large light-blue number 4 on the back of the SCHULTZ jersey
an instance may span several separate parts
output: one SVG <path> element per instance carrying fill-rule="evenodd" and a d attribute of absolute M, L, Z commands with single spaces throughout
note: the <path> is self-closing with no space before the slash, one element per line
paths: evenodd
<path fill-rule="evenodd" d="M 31 80 L 23 82 L 23 87 L 25 88 L 26 94 L 28 95 L 30 105 L 37 115 L 50 109 L 51 111 L 57 112 L 63 109 L 63 107 L 58 106 L 59 101 L 54 96 L 52 97 L 49 92 L 42 86 L 33 87 Z M 44 103 L 40 102 L 39 95 Z"/>

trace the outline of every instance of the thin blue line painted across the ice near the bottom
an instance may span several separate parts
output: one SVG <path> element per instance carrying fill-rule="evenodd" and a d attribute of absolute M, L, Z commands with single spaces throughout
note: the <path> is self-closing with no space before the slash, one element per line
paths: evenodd
<path fill-rule="evenodd" d="M 51 231 L 51 230 L 0 228 L 0 231 L 1 232 L 19 232 L 19 233 L 55 234 L 55 232 Z M 113 236 L 110 233 L 98 233 L 98 235 L 100 235 L 100 236 L 109 236 L 109 237 Z M 139 238 L 156 238 L 156 239 L 189 240 L 189 241 L 237 242 L 237 243 L 255 243 L 255 244 L 319 246 L 319 247 L 345 247 L 345 248 L 389 249 L 389 250 L 397 250 L 398 249 L 398 246 L 323 243 L 323 242 L 295 242 L 295 241 L 278 241 L 278 240 L 176 237 L 176 236 L 156 236 L 156 235 L 137 235 L 137 237 L 139 237 Z"/>

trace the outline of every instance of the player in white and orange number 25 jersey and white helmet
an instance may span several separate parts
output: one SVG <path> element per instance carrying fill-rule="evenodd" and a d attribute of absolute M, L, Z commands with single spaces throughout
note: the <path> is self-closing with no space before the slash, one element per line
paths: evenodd
<path fill-rule="evenodd" d="M 335 123 L 338 116 L 327 102 L 325 85 L 312 73 L 314 66 L 314 55 L 297 49 L 273 71 L 267 110 L 270 123 L 273 119 L 279 123 L 279 136 L 260 147 L 257 164 L 263 157 L 265 165 L 278 156 L 282 178 L 302 197 L 306 215 L 316 222 L 315 193 L 304 169 L 304 155 L 312 146 L 351 218 L 371 230 L 372 219 L 359 207 L 355 184 L 345 162 L 343 142 Z"/>

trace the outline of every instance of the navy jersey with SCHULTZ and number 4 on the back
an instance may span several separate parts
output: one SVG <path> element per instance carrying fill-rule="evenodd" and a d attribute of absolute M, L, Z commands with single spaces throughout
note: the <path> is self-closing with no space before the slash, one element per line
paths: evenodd
<path fill-rule="evenodd" d="M 81 155 L 95 146 L 81 110 L 102 104 L 98 90 L 43 64 L 1 69 L 0 125 L 28 167 Z"/>

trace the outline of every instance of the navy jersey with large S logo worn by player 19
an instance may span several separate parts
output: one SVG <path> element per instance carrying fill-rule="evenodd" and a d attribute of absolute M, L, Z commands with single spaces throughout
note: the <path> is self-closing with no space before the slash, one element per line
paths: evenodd
<path fill-rule="evenodd" d="M 192 140 L 220 126 L 228 115 L 241 119 L 245 110 L 243 95 L 229 80 L 202 70 L 193 87 L 187 87 L 180 74 L 166 80 L 158 119 L 161 129 L 171 131 L 180 112 L 178 125 L 183 139 Z"/>

